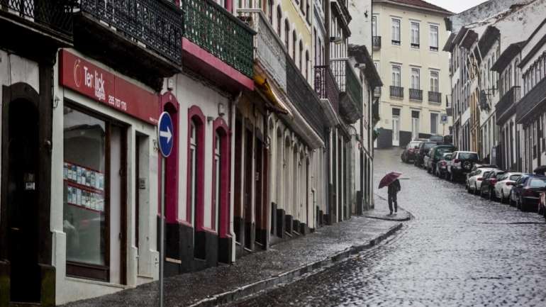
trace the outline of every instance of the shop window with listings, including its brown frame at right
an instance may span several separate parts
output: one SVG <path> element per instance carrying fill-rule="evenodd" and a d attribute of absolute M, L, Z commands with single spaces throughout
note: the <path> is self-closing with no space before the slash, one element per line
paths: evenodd
<path fill-rule="evenodd" d="M 126 233 L 120 223 L 126 198 L 123 128 L 67 106 L 63 137 L 67 275 L 123 283 L 124 247 L 111 240 L 111 233 L 116 238 Z M 110 172 L 112 168 L 116 171 Z M 115 271 L 121 274 L 109 274 L 108 266 L 120 267 Z"/>

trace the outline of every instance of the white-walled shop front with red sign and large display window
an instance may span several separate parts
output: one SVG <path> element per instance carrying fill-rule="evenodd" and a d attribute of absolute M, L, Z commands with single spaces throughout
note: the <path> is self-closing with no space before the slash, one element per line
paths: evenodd
<path fill-rule="evenodd" d="M 63 303 L 157 278 L 160 96 L 74 50 L 58 66 L 51 218 Z"/>

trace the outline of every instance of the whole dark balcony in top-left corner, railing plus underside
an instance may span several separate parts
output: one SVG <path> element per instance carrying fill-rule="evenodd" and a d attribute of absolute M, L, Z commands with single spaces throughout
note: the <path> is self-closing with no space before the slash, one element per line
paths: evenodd
<path fill-rule="evenodd" d="M 33 59 L 72 46 L 72 1 L 0 0 L 0 33 L 6 50 Z"/>

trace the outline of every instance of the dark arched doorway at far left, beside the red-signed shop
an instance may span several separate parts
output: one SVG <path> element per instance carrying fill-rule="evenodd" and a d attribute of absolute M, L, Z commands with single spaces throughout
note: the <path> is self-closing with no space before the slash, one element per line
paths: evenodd
<path fill-rule="evenodd" d="M 38 267 L 38 108 L 27 100 L 4 108 L 2 191 L 8 210 L 8 259 L 11 263 L 11 301 L 40 302 Z M 47 230 L 43 230 L 47 231 Z"/>

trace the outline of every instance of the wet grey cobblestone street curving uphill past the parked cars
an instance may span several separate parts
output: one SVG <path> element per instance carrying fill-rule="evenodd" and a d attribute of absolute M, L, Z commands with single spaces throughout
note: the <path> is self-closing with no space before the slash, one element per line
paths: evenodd
<path fill-rule="evenodd" d="M 346 262 L 232 306 L 546 306 L 546 224 L 378 150 L 403 172 L 405 230 Z M 391 169 L 394 167 L 395 169 Z M 385 197 L 386 189 L 377 191 Z M 376 206 L 386 206 L 378 199 Z"/>

